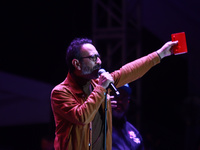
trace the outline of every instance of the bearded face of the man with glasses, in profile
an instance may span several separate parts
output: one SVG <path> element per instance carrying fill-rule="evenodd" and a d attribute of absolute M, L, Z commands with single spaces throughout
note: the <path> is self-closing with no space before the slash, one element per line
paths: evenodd
<path fill-rule="evenodd" d="M 81 48 L 81 57 L 81 75 L 87 79 L 98 78 L 101 59 L 96 48 L 92 44 L 84 44 Z"/>

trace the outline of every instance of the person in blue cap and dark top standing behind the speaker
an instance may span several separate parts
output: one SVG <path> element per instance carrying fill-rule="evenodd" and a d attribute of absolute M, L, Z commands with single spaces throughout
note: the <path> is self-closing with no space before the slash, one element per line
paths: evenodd
<path fill-rule="evenodd" d="M 132 90 L 128 84 L 118 88 L 120 96 L 111 97 L 113 130 L 112 150 L 144 150 L 139 131 L 126 119 Z"/>

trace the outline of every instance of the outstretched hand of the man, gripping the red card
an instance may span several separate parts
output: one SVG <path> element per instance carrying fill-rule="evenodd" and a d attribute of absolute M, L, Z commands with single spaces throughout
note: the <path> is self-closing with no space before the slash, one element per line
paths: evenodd
<path fill-rule="evenodd" d="M 159 50 L 157 50 L 156 52 L 158 53 L 158 55 L 160 56 L 160 58 L 164 58 L 167 56 L 170 56 L 173 54 L 172 52 L 172 47 L 174 45 L 178 44 L 178 41 L 169 41 L 167 43 L 165 43 Z"/>

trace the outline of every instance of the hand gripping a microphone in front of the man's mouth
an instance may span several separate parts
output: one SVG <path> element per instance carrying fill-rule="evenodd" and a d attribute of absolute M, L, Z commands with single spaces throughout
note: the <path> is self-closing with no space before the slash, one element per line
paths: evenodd
<path fill-rule="evenodd" d="M 98 73 L 99 73 L 99 85 L 103 86 L 105 89 L 111 88 L 111 90 L 115 92 L 115 94 L 118 96 L 120 93 L 114 86 L 113 84 L 114 80 L 110 75 L 110 73 L 106 72 L 104 69 L 100 69 Z"/>

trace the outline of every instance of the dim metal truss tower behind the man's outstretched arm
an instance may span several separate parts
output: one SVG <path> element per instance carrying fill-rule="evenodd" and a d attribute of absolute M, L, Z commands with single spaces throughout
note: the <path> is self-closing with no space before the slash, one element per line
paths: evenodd
<path fill-rule="evenodd" d="M 92 1 L 93 42 L 102 56 L 102 67 L 111 72 L 141 57 L 140 0 Z M 140 107 L 140 81 L 134 87 Z"/>

